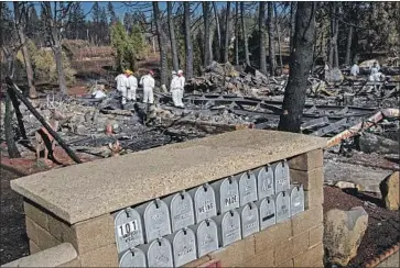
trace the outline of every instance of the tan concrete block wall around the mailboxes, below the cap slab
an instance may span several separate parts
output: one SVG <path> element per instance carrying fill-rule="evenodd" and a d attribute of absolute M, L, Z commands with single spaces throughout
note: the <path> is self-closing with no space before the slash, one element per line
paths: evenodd
<path fill-rule="evenodd" d="M 291 181 L 304 187 L 306 211 L 185 267 L 210 260 L 221 267 L 323 267 L 322 158 L 322 149 L 316 149 L 289 160 Z M 31 254 L 71 243 L 78 253 L 74 267 L 118 266 L 111 214 L 69 225 L 28 200 L 24 210 Z"/>

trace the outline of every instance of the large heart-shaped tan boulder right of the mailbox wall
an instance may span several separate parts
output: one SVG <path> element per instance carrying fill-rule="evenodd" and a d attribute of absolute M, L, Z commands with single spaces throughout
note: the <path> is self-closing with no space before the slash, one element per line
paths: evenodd
<path fill-rule="evenodd" d="M 363 206 L 349 211 L 331 210 L 324 216 L 324 247 L 326 263 L 347 266 L 368 226 L 368 214 Z"/>

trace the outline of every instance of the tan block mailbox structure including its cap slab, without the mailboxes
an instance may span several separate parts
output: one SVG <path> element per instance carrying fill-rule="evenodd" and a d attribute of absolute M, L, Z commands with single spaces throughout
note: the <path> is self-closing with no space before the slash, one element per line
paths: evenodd
<path fill-rule="evenodd" d="M 11 187 L 25 198 L 32 256 L 67 244 L 77 256 L 62 264 L 66 267 L 118 267 L 116 211 L 288 159 L 291 182 L 304 187 L 306 210 L 185 267 L 322 267 L 325 143 L 298 134 L 236 131 L 33 175 Z"/>

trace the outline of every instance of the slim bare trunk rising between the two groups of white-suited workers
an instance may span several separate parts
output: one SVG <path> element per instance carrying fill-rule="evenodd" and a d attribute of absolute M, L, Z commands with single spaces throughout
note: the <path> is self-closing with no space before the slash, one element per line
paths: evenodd
<path fill-rule="evenodd" d="M 161 67 L 161 85 L 166 86 L 169 83 L 167 78 L 167 59 L 166 59 L 166 47 L 165 47 L 165 33 L 162 29 L 161 21 L 160 21 L 160 9 L 159 9 L 159 2 L 152 2 L 153 3 L 153 13 L 154 13 L 154 23 L 155 23 L 155 30 L 156 30 L 156 37 L 159 42 L 160 47 L 160 67 Z"/>

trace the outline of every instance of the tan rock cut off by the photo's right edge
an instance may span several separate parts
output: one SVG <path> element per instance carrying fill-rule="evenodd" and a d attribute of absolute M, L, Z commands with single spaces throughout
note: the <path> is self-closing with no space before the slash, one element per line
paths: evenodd
<path fill-rule="evenodd" d="M 385 208 L 387 208 L 388 210 L 399 210 L 399 171 L 389 175 L 379 185 Z"/>

